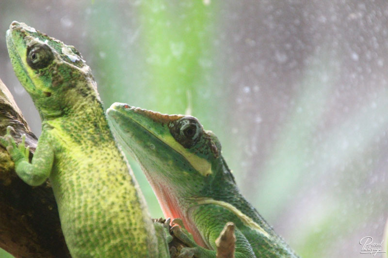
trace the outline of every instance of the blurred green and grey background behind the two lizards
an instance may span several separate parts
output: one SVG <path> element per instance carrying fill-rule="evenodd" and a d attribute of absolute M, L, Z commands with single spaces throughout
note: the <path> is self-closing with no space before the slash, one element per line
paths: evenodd
<path fill-rule="evenodd" d="M 0 78 L 39 135 L 5 31 L 17 20 L 74 45 L 105 108 L 191 114 L 212 130 L 244 196 L 302 257 L 365 257 L 359 241 L 380 243 L 388 216 L 387 10 L 385 0 L 1 0 Z"/>

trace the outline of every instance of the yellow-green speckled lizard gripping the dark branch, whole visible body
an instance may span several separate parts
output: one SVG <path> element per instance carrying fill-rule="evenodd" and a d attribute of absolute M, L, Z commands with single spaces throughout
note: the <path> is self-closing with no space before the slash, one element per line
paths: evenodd
<path fill-rule="evenodd" d="M 24 182 L 34 186 L 49 178 L 71 256 L 169 257 L 163 228 L 152 224 L 81 54 L 16 21 L 7 31 L 7 47 L 39 111 L 42 134 L 31 163 L 24 141 L 16 146 L 10 128 L 1 144 Z"/>

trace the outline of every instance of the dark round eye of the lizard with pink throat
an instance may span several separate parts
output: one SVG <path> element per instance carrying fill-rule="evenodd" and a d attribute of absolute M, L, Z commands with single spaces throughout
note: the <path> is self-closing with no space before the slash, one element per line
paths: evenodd
<path fill-rule="evenodd" d="M 173 137 L 185 148 L 191 148 L 202 136 L 202 125 L 194 117 L 184 117 L 170 127 Z"/>

